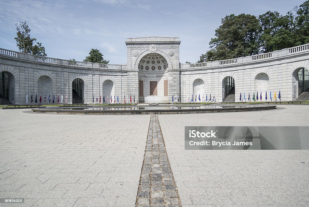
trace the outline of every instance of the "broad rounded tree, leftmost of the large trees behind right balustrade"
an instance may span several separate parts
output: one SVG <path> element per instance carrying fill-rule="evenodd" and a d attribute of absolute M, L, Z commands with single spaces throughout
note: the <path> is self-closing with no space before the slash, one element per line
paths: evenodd
<path fill-rule="evenodd" d="M 213 60 L 232 59 L 259 53 L 259 20 L 254 15 L 229 15 L 222 19 L 209 42 L 214 49 L 207 57 Z"/>

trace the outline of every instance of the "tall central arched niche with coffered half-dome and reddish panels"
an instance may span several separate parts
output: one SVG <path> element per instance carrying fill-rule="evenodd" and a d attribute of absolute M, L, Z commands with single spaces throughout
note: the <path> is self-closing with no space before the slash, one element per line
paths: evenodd
<path fill-rule="evenodd" d="M 144 103 L 145 97 L 152 98 L 156 103 L 168 102 L 168 64 L 163 55 L 146 54 L 138 64 L 139 102 Z M 153 97 L 155 96 L 155 97 Z"/>

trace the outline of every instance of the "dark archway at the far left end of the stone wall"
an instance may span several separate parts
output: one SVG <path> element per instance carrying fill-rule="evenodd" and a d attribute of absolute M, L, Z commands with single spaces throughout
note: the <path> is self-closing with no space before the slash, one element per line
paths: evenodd
<path fill-rule="evenodd" d="M 12 73 L 0 72 L 0 105 L 15 103 L 14 85 L 15 78 Z"/>

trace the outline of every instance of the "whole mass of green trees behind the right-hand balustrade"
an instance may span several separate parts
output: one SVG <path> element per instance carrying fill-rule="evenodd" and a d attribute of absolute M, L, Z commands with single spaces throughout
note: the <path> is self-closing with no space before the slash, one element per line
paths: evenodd
<path fill-rule="evenodd" d="M 210 51 L 198 62 L 232 59 L 309 43 L 309 1 L 294 12 L 280 15 L 267 11 L 258 18 L 249 14 L 228 15 L 209 42 Z"/>

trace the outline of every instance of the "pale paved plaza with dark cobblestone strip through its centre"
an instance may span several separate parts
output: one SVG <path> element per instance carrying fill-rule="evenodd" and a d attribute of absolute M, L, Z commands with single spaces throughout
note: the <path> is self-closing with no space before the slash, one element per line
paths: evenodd
<path fill-rule="evenodd" d="M 0 110 L 0 197 L 24 206 L 308 206 L 308 150 L 184 150 L 185 126 L 309 126 L 308 113 Z"/>

